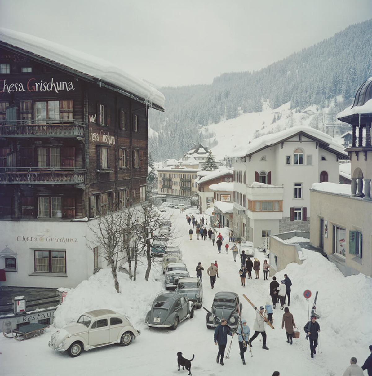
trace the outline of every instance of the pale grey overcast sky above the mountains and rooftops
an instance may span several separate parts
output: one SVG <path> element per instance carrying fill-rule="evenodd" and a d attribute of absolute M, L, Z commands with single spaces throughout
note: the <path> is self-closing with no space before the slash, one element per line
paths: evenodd
<path fill-rule="evenodd" d="M 371 0 L 0 0 L 0 26 L 113 62 L 156 86 L 260 70 L 372 18 Z"/>

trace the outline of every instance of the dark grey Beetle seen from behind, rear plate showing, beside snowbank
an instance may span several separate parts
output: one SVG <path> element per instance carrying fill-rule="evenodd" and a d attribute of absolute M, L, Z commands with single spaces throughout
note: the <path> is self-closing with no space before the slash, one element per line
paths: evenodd
<path fill-rule="evenodd" d="M 164 291 L 156 295 L 145 323 L 149 327 L 169 327 L 176 330 L 179 323 L 193 316 L 193 302 L 181 294 Z"/>

